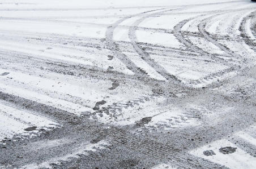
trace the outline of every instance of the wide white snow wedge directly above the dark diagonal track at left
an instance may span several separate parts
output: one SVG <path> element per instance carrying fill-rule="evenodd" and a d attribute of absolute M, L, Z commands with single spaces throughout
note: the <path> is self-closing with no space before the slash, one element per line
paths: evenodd
<path fill-rule="evenodd" d="M 10 74 L 0 76 L 0 91 L 52 105 L 77 115 L 92 111 L 96 101 L 101 101 L 106 96 L 112 95 L 112 97 L 105 98 L 109 105 L 122 100 L 120 94 L 112 94 L 111 91 L 107 90 L 111 87 L 111 81 L 109 84 L 106 83 L 107 81 L 94 81 L 89 78 L 79 78 L 75 81 L 75 79 L 67 78 L 67 75 L 62 77 L 58 74 L 52 74 L 46 78 L 0 69 L 0 73 L 4 72 Z M 69 96 L 71 95 L 78 97 L 80 103 L 74 103 L 73 100 L 70 100 Z M 140 94 L 138 93 L 138 95 Z M 129 97 L 132 99 L 134 95 L 126 95 L 127 99 Z"/>

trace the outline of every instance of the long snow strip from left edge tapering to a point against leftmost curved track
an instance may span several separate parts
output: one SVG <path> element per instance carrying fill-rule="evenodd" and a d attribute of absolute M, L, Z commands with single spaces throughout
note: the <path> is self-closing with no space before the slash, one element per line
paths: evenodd
<path fill-rule="evenodd" d="M 118 72 L 132 75 L 133 73 L 126 68 L 123 63 L 117 58 L 109 61 L 108 57 L 105 55 L 92 54 L 84 48 L 76 48 L 74 53 L 74 48 L 68 49 L 59 46 L 54 46 L 53 44 L 39 44 L 27 43 L 27 42 L 14 42 L 14 41 L 0 41 L 0 50 L 7 50 L 9 52 L 15 51 L 20 54 L 28 54 L 32 57 L 47 58 L 53 60 L 65 61 L 67 63 L 83 64 L 90 66 L 97 66 L 103 70 L 107 70 L 109 66 L 112 66 Z M 82 50 L 82 51 L 80 51 Z M 93 52 L 93 51 L 92 51 Z M 85 55 L 87 53 L 87 55 Z"/>

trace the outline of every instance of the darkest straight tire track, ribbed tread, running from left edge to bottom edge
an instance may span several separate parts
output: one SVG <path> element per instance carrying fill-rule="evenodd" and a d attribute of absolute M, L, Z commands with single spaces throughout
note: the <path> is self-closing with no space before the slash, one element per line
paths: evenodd
<path fill-rule="evenodd" d="M 153 141 L 150 138 L 140 139 L 139 137 L 130 134 L 130 132 L 122 130 L 117 127 L 105 127 L 102 124 L 89 122 L 84 118 L 73 115 L 65 110 L 53 108 L 52 106 L 40 104 L 36 101 L 24 99 L 22 97 L 6 94 L 0 91 L 0 99 L 5 100 L 8 103 L 15 104 L 22 108 L 32 110 L 34 112 L 41 113 L 42 115 L 48 115 L 62 124 L 77 126 L 86 122 L 86 126 L 81 126 L 81 130 L 85 130 L 96 136 L 104 134 L 101 137 L 110 136 L 112 140 L 118 144 L 126 146 L 126 148 L 132 149 L 135 152 L 140 152 L 150 157 L 157 157 L 164 161 L 175 162 L 182 168 L 198 167 L 198 168 L 223 168 L 218 164 L 204 161 L 203 159 L 193 157 L 189 154 L 180 153 L 180 150 L 175 150 L 169 145 L 161 144 L 157 141 Z M 82 129 L 83 128 L 83 129 Z"/>

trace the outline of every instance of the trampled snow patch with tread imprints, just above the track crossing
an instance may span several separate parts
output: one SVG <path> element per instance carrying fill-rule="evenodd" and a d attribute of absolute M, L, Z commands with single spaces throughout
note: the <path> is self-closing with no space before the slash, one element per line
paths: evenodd
<path fill-rule="evenodd" d="M 174 105 L 159 105 L 163 98 L 151 98 L 143 104 L 136 105 L 133 109 L 123 109 L 123 115 L 117 118 L 118 124 L 121 126 L 134 124 L 144 117 L 151 117 L 151 121 L 145 124 L 146 128 L 159 128 L 159 130 L 169 130 L 173 127 L 197 126 L 200 123 L 194 118 L 189 117 L 185 110 L 179 109 Z"/>

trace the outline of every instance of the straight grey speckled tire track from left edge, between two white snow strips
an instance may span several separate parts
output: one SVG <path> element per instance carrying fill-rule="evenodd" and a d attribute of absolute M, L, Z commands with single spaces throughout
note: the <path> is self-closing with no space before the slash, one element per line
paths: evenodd
<path fill-rule="evenodd" d="M 56 61 L 56 60 L 45 60 L 41 57 L 31 57 L 28 54 L 21 54 L 18 52 L 10 52 L 10 51 L 2 51 L 0 50 L 1 59 L 5 60 L 8 63 L 5 68 L 10 68 L 12 70 L 20 70 L 21 72 L 32 73 L 31 69 L 39 69 L 45 72 L 58 73 L 63 75 L 74 75 L 76 77 L 87 77 L 95 76 L 97 74 L 97 78 L 105 79 L 106 77 L 116 77 L 119 79 L 138 79 L 137 75 L 128 75 L 123 74 L 116 71 L 105 71 L 101 68 L 91 66 L 91 65 L 76 65 L 72 63 L 67 63 L 64 61 Z M 17 67 L 13 68 L 10 64 L 16 64 Z M 22 70 L 22 65 L 26 65 L 29 69 Z M 36 74 L 37 76 L 39 74 Z M 143 81 L 143 79 L 141 79 Z M 155 81 L 155 80 L 152 80 Z"/>

